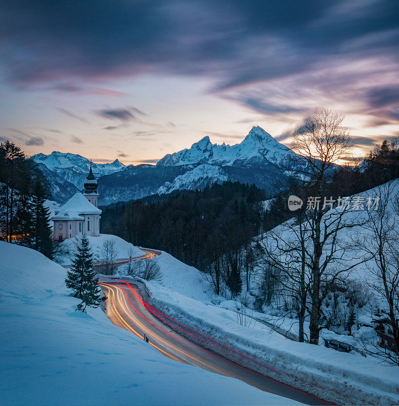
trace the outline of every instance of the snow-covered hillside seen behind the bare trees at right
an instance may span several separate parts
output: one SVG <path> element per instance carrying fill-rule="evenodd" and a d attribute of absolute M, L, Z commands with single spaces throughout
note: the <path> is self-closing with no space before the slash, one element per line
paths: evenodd
<path fill-rule="evenodd" d="M 389 198 L 387 198 L 388 191 L 390 195 Z M 365 192 L 349 196 L 349 208 L 345 209 L 340 221 L 341 227 L 343 227 L 344 224 L 348 225 L 349 227 L 343 227 L 338 231 L 336 237 L 335 234 L 332 233 L 332 235 L 330 235 L 330 237 L 327 239 L 321 260 L 325 259 L 325 255 L 330 254 L 329 249 L 331 248 L 331 244 L 333 244 L 333 242 L 335 244 L 334 257 L 336 259 L 332 260 L 327 265 L 327 269 L 324 271 L 325 274 L 328 275 L 330 271 L 334 274 L 336 272 L 336 268 L 346 269 L 349 267 L 349 265 L 352 266 L 358 263 L 358 265 L 354 266 L 347 272 L 342 273 L 340 278 L 345 279 L 345 277 L 349 277 L 349 279 L 363 281 L 373 278 L 373 273 L 370 271 L 370 269 L 375 266 L 374 259 L 361 262 L 362 260 L 371 258 L 371 252 L 378 252 L 375 235 L 370 229 L 371 223 L 367 222 L 369 216 L 373 216 L 373 213 L 376 212 L 373 210 L 368 211 L 366 208 L 369 198 L 372 202 L 374 202 L 374 199 L 377 199 L 378 204 L 381 206 L 381 200 L 385 200 L 384 196 L 386 197 L 387 203 L 385 207 L 386 217 L 384 218 L 383 226 L 386 227 L 386 229 L 389 228 L 390 232 L 392 233 L 399 233 L 399 215 L 395 210 L 397 205 L 396 199 L 399 197 L 399 179 L 390 181 Z M 355 202 L 358 198 L 363 199 L 363 208 L 355 206 Z M 327 231 L 333 230 L 336 226 L 339 214 L 342 212 L 342 208 L 334 208 L 329 210 L 323 217 L 324 220 L 321 223 L 322 230 L 324 230 L 325 224 L 327 224 Z M 375 219 L 374 221 L 377 220 Z M 268 248 L 269 252 L 273 252 L 275 250 L 277 243 L 281 250 L 286 249 L 287 247 L 297 247 L 299 226 L 293 227 L 292 224 L 292 220 L 288 220 L 285 223 L 280 224 L 274 229 L 266 232 L 264 235 L 261 235 L 259 239 L 262 241 L 262 244 Z M 307 222 L 303 223 L 302 232 L 305 235 L 305 240 L 307 241 L 306 244 L 311 246 L 309 235 L 312 232 L 312 226 Z M 395 234 L 395 236 L 397 236 L 397 234 Z M 367 250 L 364 248 L 365 246 L 361 246 L 361 244 L 367 245 Z M 290 257 L 288 254 L 284 257 L 284 255 L 281 254 L 280 260 L 283 260 L 284 258 L 286 261 L 291 261 L 292 257 Z M 295 265 L 291 262 L 291 266 Z"/>

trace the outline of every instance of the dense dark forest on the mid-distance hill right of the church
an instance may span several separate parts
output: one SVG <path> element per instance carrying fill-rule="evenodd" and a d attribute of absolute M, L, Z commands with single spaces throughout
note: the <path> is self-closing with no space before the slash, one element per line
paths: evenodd
<path fill-rule="evenodd" d="M 241 267 L 242 247 L 264 228 L 264 199 L 255 185 L 214 184 L 148 204 L 134 201 L 108 208 L 101 215 L 101 232 L 165 250 L 200 269 L 229 253 L 226 267 L 231 274 Z M 239 285 L 238 279 L 234 283 Z"/>

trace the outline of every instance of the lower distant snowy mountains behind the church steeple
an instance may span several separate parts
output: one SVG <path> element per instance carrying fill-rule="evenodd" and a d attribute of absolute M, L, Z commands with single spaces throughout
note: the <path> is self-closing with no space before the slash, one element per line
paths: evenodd
<path fill-rule="evenodd" d="M 30 157 L 37 163 L 44 164 L 50 171 L 55 172 L 64 180 L 82 189 L 83 183 L 90 170 L 90 160 L 69 152 L 53 151 L 49 155 L 36 154 Z M 112 163 L 92 163 L 93 174 L 96 178 L 123 171 L 126 165 L 115 159 Z"/>

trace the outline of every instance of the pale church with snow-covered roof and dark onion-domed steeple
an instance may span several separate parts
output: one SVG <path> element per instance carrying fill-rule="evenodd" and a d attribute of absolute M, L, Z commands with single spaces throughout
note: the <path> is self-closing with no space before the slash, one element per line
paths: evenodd
<path fill-rule="evenodd" d="M 100 214 L 97 207 L 97 180 L 90 172 L 84 184 L 85 191 L 76 193 L 55 211 L 53 240 L 63 241 L 82 234 L 92 237 L 100 235 Z"/>

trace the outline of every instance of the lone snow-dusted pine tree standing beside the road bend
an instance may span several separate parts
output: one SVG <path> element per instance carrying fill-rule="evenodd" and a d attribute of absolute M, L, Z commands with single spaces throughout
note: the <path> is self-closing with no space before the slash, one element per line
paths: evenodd
<path fill-rule="evenodd" d="M 101 300 L 98 278 L 93 270 L 93 254 L 89 246 L 89 240 L 84 235 L 78 252 L 70 270 L 67 272 L 65 284 L 74 291 L 74 296 L 82 300 L 77 310 L 86 311 L 86 307 L 96 308 Z"/>

